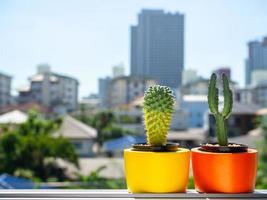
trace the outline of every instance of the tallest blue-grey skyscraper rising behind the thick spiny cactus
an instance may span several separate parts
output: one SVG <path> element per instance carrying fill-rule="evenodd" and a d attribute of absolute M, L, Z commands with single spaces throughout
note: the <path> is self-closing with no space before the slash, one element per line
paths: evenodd
<path fill-rule="evenodd" d="M 184 68 L 184 15 L 142 10 L 131 27 L 131 75 L 178 88 Z"/>

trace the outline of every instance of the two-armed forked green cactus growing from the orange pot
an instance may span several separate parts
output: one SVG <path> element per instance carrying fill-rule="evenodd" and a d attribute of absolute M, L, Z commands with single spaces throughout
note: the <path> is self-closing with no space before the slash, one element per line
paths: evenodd
<path fill-rule="evenodd" d="M 219 105 L 219 90 L 216 87 L 217 76 L 212 74 L 209 82 L 209 91 L 208 91 L 208 104 L 210 112 L 214 115 L 216 121 L 216 134 L 218 143 L 220 146 L 228 145 L 228 136 L 225 120 L 229 118 L 232 107 L 233 107 L 233 94 L 229 87 L 229 81 L 225 74 L 222 75 L 223 81 L 223 96 L 224 104 L 223 109 L 220 112 L 218 109 Z"/>

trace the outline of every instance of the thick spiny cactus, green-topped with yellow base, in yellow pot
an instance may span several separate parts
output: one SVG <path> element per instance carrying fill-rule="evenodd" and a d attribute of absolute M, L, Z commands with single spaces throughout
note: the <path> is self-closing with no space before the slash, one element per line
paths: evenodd
<path fill-rule="evenodd" d="M 174 104 L 172 91 L 166 86 L 154 85 L 145 92 L 143 112 L 148 144 L 166 144 Z"/>

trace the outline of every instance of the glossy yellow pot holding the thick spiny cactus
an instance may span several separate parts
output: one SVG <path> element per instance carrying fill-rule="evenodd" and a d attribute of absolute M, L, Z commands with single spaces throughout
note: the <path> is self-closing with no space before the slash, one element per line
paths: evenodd
<path fill-rule="evenodd" d="M 185 192 L 189 177 L 190 151 L 148 152 L 124 150 L 124 167 L 129 192 Z"/>

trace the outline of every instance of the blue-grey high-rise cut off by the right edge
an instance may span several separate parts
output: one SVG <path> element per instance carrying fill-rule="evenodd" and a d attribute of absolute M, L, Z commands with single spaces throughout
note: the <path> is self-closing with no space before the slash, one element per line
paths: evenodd
<path fill-rule="evenodd" d="M 267 37 L 262 41 L 248 43 L 248 58 L 245 62 L 246 85 L 252 82 L 252 72 L 255 70 L 267 70 Z"/>

